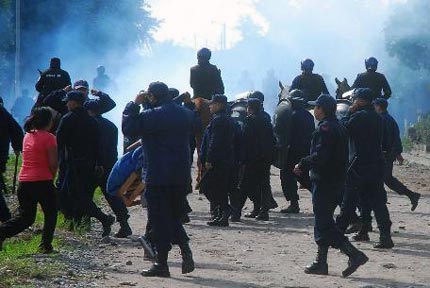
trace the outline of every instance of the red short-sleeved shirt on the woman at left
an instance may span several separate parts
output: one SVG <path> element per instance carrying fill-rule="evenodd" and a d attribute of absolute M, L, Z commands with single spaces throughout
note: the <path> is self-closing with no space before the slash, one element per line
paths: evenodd
<path fill-rule="evenodd" d="M 22 148 L 22 166 L 19 181 L 52 180 L 49 170 L 48 149 L 57 147 L 55 136 L 48 131 L 34 130 L 25 133 Z"/>

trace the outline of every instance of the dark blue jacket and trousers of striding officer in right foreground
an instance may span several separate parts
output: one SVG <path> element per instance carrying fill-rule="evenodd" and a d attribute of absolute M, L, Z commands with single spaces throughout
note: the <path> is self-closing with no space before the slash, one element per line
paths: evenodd
<path fill-rule="evenodd" d="M 346 239 L 333 214 L 342 197 L 347 164 L 346 129 L 335 118 L 324 119 L 313 133 L 310 155 L 299 163 L 300 169 L 310 170 L 314 237 L 319 246 L 339 248 Z"/>

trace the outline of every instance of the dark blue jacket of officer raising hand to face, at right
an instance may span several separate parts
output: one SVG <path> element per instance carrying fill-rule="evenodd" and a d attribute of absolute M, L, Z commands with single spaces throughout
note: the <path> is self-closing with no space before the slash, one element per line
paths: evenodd
<path fill-rule="evenodd" d="M 351 172 L 363 179 L 382 177 L 382 117 L 372 105 L 367 105 L 354 113 L 348 112 L 341 119 L 341 123 L 349 134 L 349 161 L 353 169 Z"/>

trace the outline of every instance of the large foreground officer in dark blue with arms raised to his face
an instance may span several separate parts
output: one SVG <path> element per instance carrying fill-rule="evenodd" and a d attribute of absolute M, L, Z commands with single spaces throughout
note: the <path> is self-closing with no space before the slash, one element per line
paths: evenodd
<path fill-rule="evenodd" d="M 153 108 L 139 114 L 139 105 L 146 101 Z M 194 270 L 189 239 L 180 221 L 191 177 L 189 135 L 192 122 L 192 112 L 175 104 L 169 97 L 167 85 L 162 82 L 151 83 L 148 91 L 128 103 L 123 113 L 124 135 L 142 139 L 148 221 L 157 250 L 156 262 L 142 272 L 143 276 L 170 276 L 167 258 L 173 240 L 182 251 L 182 273 Z"/>

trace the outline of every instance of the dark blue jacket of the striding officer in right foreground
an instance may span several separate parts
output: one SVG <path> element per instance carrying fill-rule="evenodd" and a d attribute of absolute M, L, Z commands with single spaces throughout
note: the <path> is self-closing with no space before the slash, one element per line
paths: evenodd
<path fill-rule="evenodd" d="M 310 170 L 311 181 L 341 184 L 348 165 L 348 134 L 336 118 L 327 118 L 318 124 L 312 135 L 309 156 L 299 167 Z"/>

